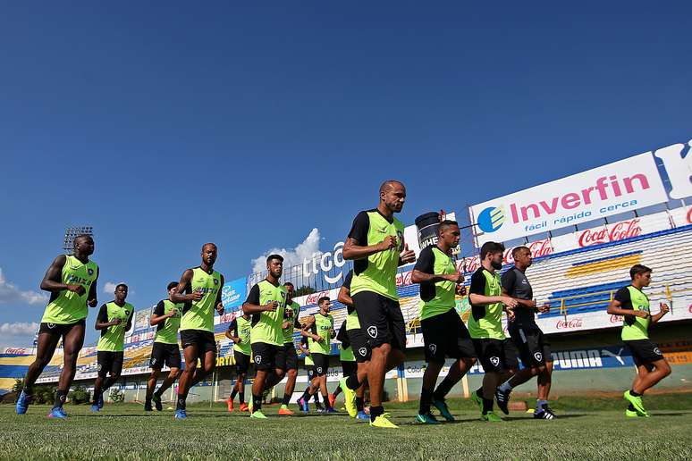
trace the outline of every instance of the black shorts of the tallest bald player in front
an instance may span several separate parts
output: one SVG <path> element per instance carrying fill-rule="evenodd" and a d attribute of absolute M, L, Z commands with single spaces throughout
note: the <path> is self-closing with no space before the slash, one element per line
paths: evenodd
<path fill-rule="evenodd" d="M 366 332 L 371 347 L 391 344 L 392 348 L 406 349 L 406 323 L 399 301 L 373 291 L 361 291 L 351 298 L 360 328 Z"/>

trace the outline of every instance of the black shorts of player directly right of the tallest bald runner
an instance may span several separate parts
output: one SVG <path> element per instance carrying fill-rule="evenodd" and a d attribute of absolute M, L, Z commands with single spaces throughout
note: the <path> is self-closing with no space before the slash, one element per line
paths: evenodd
<path fill-rule="evenodd" d="M 423 331 L 426 362 L 444 362 L 445 357 L 476 357 L 466 325 L 454 309 L 421 320 L 420 329 Z"/>

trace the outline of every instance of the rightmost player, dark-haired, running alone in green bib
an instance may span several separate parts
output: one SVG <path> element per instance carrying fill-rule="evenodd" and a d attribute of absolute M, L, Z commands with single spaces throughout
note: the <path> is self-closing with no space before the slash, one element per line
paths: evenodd
<path fill-rule="evenodd" d="M 671 365 L 668 365 L 661 349 L 649 339 L 649 326 L 657 323 L 670 311 L 667 304 L 661 303 L 658 314 L 651 314 L 649 298 L 643 291 L 651 283 L 651 272 L 646 265 L 633 265 L 629 269 L 632 282 L 629 286 L 619 289 L 608 306 L 608 314 L 623 317 L 621 338 L 631 350 L 632 358 L 637 365 L 637 376 L 632 382 L 632 389 L 626 390 L 624 394 L 625 400 L 629 402 L 625 415 L 629 417 L 649 416 L 642 396 L 646 390 L 653 388 L 658 381 L 671 374 Z"/>

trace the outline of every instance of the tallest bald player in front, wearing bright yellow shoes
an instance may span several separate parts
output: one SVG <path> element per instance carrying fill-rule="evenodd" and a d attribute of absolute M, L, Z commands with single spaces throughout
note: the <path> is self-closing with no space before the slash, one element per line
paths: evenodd
<path fill-rule="evenodd" d="M 370 425 L 395 428 L 384 414 L 382 393 L 384 374 L 405 357 L 406 325 L 399 306 L 396 272 L 401 264 L 413 263 L 416 256 L 403 241 L 403 224 L 394 217 L 406 201 L 406 188 L 398 180 L 385 180 L 379 198 L 376 209 L 360 212 L 354 219 L 343 257 L 353 260 L 350 296 L 372 348 L 367 366 Z M 347 383 L 350 390 L 358 389 L 365 379 L 360 372 L 357 376 L 359 382 Z"/>

